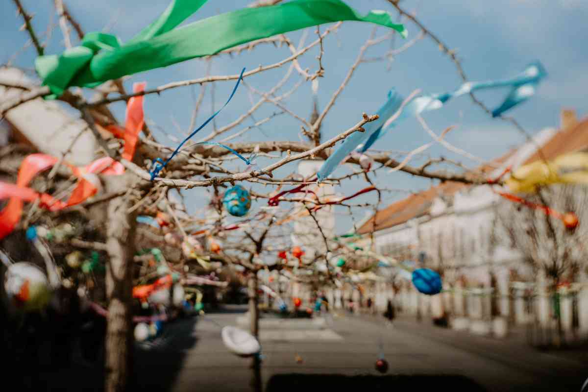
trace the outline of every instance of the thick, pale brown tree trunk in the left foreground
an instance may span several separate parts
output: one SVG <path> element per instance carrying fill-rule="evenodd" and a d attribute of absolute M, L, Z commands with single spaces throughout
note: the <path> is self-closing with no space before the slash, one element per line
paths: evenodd
<path fill-rule="evenodd" d="M 119 192 L 131 186 L 131 176 L 106 179 L 108 192 Z M 106 392 L 122 392 L 128 387 L 132 364 L 132 265 L 135 254 L 134 214 L 126 211 L 130 197 L 116 197 L 106 212 Z"/>

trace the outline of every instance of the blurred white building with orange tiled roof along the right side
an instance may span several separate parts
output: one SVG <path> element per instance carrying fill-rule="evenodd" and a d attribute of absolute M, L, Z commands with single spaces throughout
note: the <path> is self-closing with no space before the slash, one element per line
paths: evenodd
<path fill-rule="evenodd" d="M 532 141 L 493 161 L 494 166 L 479 169 L 489 178 L 496 177 L 507 166 L 516 169 L 539 159 L 538 146 L 546 159 L 588 148 L 588 119 L 578 122 L 573 112 L 564 110 L 560 130 L 542 130 Z M 523 299 L 526 286 L 516 282 L 536 281 L 543 290 L 544 278 L 540 273 L 536 276 L 500 224 L 496 206 L 501 199 L 488 185 L 446 182 L 393 203 L 366 221 L 358 232 L 375 232 L 377 253 L 399 260 L 425 256 L 422 266 L 439 270 L 444 289 L 450 289 L 450 293 L 428 297 L 406 282 L 396 293 L 397 303 L 409 313 L 433 317 L 451 314 L 489 321 L 503 316 L 515 323 L 530 321 L 529 305 Z M 467 296 L 462 294 L 465 286 Z M 538 296 L 534 306 L 540 320 L 549 317 L 546 297 Z M 569 319 L 564 325 L 571 326 L 572 311 L 566 311 L 567 307 L 571 309 L 563 300 L 562 317 Z M 588 310 L 588 293 L 579 294 L 579 307 Z M 588 333 L 588 316 L 579 318 L 580 329 Z M 476 328 L 472 323 L 472 329 Z"/>

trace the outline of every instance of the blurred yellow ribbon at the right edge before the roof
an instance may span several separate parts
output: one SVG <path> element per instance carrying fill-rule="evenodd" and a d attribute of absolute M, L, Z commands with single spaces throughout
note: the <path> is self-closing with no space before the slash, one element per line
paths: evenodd
<path fill-rule="evenodd" d="M 537 160 L 516 169 L 506 179 L 510 192 L 536 192 L 537 187 L 556 183 L 588 184 L 588 153 L 560 155 L 550 162 Z"/>

